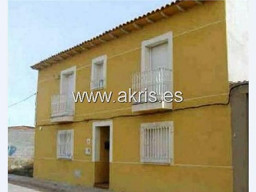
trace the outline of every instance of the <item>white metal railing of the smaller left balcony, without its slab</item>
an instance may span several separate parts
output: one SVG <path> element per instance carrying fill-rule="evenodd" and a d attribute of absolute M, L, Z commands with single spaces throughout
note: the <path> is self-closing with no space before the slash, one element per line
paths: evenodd
<path fill-rule="evenodd" d="M 74 101 L 67 95 L 52 95 L 51 117 L 74 115 Z"/>

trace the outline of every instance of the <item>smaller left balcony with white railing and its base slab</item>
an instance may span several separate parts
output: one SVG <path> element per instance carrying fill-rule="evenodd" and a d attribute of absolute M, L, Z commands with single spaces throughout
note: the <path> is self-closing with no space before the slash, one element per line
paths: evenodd
<path fill-rule="evenodd" d="M 67 95 L 52 95 L 51 122 L 72 122 L 74 117 L 74 101 Z"/>

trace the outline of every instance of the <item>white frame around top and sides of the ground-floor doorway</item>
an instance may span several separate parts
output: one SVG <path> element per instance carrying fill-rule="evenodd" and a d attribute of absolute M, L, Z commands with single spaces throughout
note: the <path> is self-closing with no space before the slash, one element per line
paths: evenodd
<path fill-rule="evenodd" d="M 96 154 L 96 128 L 99 126 L 109 126 L 109 163 L 112 162 L 112 156 L 113 156 L 113 121 L 95 121 L 93 122 L 93 138 L 92 138 L 92 162 L 95 162 L 97 160 L 97 154 Z"/>

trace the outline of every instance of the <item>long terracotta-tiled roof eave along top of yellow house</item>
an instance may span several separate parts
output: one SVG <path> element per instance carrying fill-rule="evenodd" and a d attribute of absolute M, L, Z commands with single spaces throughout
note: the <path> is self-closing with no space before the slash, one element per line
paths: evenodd
<path fill-rule="evenodd" d="M 98 45 L 101 45 L 102 43 L 112 41 L 123 35 L 128 35 L 129 33 L 135 30 L 140 30 L 145 25 L 150 25 L 151 23 L 154 23 L 163 18 L 168 18 L 174 14 L 185 11 L 188 8 L 193 7 L 195 5 L 202 5 L 202 2 L 203 1 L 197 1 L 197 0 L 176 0 L 175 2 L 166 4 L 165 6 L 159 9 L 148 12 L 143 16 L 134 18 L 133 20 L 130 20 L 126 23 L 118 25 L 117 27 L 114 27 L 113 29 L 105 31 L 104 33 L 98 36 L 95 36 L 87 41 L 84 41 L 78 45 L 70 47 L 67 50 L 54 54 L 44 59 L 43 61 L 35 63 L 33 66 L 31 66 L 31 68 L 36 70 L 46 68 L 63 59 L 67 59 L 76 54 L 80 54 L 86 50 L 89 50 Z"/>

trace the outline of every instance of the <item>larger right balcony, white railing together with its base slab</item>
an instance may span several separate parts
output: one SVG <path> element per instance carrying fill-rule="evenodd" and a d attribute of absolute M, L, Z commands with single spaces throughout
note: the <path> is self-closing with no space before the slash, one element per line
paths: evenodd
<path fill-rule="evenodd" d="M 145 102 L 145 94 L 141 95 L 139 101 L 139 94 L 135 98 L 137 102 L 132 104 L 132 111 L 150 111 L 172 109 L 172 103 L 163 101 L 163 95 L 166 91 L 172 91 L 172 70 L 168 68 L 156 68 L 155 70 L 136 72 L 132 75 L 132 92 L 147 90 L 147 101 Z M 157 101 L 148 102 L 149 93 L 156 92 Z"/>

